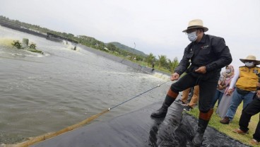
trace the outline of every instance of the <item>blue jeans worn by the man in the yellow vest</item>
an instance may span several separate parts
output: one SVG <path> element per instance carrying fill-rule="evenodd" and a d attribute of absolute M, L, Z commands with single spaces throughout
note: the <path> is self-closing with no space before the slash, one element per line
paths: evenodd
<path fill-rule="evenodd" d="M 243 110 L 244 107 L 246 107 L 250 102 L 252 102 L 254 97 L 254 93 L 247 93 L 246 95 L 241 95 L 240 93 L 237 93 L 237 89 L 235 89 L 234 94 L 232 96 L 232 101 L 230 103 L 230 107 L 228 107 L 228 112 L 225 114 L 226 117 L 230 119 L 230 121 L 233 119 L 235 112 L 237 111 L 237 107 L 240 105 L 240 103 L 243 100 Z"/>

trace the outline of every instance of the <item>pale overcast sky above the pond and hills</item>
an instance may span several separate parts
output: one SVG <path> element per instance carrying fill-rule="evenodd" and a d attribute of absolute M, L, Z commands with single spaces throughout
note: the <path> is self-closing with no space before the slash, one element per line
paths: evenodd
<path fill-rule="evenodd" d="M 225 39 L 235 68 L 249 54 L 260 60 L 259 0 L 1 0 L 0 15 L 179 61 L 189 44 L 182 30 L 199 18 Z"/>

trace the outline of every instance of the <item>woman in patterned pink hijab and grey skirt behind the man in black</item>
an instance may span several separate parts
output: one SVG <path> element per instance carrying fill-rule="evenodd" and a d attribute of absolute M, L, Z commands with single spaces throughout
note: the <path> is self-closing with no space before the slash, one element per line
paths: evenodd
<path fill-rule="evenodd" d="M 234 77 L 234 67 L 232 65 L 226 66 L 225 68 L 225 74 L 223 76 L 223 81 L 220 81 L 220 83 L 223 83 L 225 88 L 223 88 L 223 96 L 218 100 L 218 109 L 216 110 L 216 113 L 221 118 L 225 117 L 226 112 L 228 111 L 228 107 L 230 106 L 230 102 L 232 100 L 232 95 L 228 95 L 228 88 L 230 86 L 230 82 L 232 78 Z M 216 102 L 216 100 L 215 100 Z M 213 103 L 215 105 L 215 102 Z M 213 105 L 213 107 L 214 107 Z"/>

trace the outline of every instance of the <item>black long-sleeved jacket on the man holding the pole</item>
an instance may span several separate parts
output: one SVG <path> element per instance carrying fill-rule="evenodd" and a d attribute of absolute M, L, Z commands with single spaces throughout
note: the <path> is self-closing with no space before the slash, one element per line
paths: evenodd
<path fill-rule="evenodd" d="M 225 45 L 225 40 L 222 37 L 203 34 L 200 42 L 191 42 L 184 49 L 184 55 L 175 72 L 179 75 L 184 71 L 190 73 L 199 66 L 206 66 L 207 73 L 220 72 L 221 68 L 231 62 L 230 49 Z"/>

